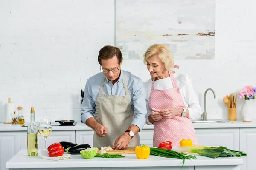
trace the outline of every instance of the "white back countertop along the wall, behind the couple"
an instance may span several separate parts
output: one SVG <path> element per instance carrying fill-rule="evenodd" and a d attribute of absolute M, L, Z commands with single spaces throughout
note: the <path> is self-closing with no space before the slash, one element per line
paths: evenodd
<path fill-rule="evenodd" d="M 193 124 L 195 129 L 205 128 L 239 128 L 239 127 L 256 127 L 256 120 L 245 123 L 242 120 L 230 121 L 230 124 Z M 153 129 L 154 125 L 145 125 L 143 129 Z M 27 127 L 21 125 L 9 125 L 0 123 L 0 131 L 26 131 Z M 75 126 L 52 126 L 52 130 L 92 130 L 84 123 L 77 122 Z"/>

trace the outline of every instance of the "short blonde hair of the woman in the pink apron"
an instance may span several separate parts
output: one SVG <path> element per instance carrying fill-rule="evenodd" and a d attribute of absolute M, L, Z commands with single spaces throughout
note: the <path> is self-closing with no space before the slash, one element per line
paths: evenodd
<path fill-rule="evenodd" d="M 173 55 L 172 51 L 165 44 L 151 45 L 144 54 L 144 64 L 147 64 L 147 60 L 157 55 L 164 63 L 166 70 L 172 70 L 173 68 Z"/>

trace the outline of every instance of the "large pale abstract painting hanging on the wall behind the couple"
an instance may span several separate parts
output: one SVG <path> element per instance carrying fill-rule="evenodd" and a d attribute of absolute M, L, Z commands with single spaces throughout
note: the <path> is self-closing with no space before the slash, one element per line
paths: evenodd
<path fill-rule="evenodd" d="M 215 0 L 116 0 L 115 31 L 124 59 L 156 43 L 175 59 L 215 59 Z"/>

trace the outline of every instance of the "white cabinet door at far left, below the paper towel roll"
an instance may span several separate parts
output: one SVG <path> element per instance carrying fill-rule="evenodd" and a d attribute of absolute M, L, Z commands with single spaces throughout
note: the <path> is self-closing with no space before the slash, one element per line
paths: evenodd
<path fill-rule="evenodd" d="M 6 162 L 20 151 L 20 132 L 0 132 L 0 170 L 6 169 Z"/>

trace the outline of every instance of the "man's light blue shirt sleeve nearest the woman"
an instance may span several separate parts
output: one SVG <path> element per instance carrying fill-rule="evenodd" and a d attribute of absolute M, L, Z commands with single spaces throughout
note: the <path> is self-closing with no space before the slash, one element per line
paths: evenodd
<path fill-rule="evenodd" d="M 147 109 L 146 109 L 146 99 L 145 99 L 145 89 L 141 79 L 134 83 L 134 94 L 133 94 L 133 106 L 134 106 L 134 119 L 131 125 L 136 125 L 140 130 L 145 125 Z"/>

